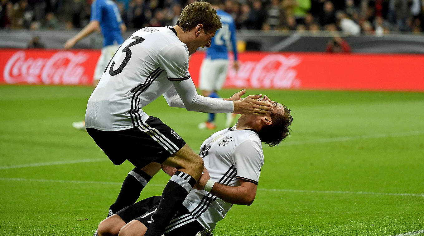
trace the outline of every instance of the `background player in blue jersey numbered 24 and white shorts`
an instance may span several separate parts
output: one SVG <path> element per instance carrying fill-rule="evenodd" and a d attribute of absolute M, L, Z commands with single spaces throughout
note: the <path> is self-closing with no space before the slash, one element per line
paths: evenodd
<path fill-rule="evenodd" d="M 228 51 L 231 48 L 234 52 L 235 70 L 238 70 L 237 40 L 236 26 L 234 19 L 228 13 L 220 10 L 222 2 L 220 0 L 209 1 L 216 9 L 221 17 L 222 28 L 212 38 L 210 48 L 206 49 L 206 57 L 204 58 L 200 68 L 199 88 L 202 95 L 211 98 L 220 98 L 218 91 L 221 90 L 228 73 Z M 227 114 L 226 127 L 231 126 L 235 114 Z M 209 114 L 206 122 L 200 123 L 200 129 L 215 129 L 215 114 Z"/>

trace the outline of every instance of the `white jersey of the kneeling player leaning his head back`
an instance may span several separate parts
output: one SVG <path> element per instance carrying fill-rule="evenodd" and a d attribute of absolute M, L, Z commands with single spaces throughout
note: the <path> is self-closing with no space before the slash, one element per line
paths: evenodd
<path fill-rule="evenodd" d="M 228 186 L 240 186 L 240 179 L 258 184 L 264 164 L 262 142 L 257 132 L 250 129 L 228 128 L 214 133 L 202 144 L 200 156 L 210 179 Z M 196 189 L 189 193 L 183 204 L 190 214 L 172 220 L 171 228 L 197 220 L 204 228 L 213 230 L 233 205 Z"/>

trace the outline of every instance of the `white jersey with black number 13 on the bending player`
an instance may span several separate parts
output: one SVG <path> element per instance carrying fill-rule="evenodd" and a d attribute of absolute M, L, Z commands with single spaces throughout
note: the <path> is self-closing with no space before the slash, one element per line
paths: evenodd
<path fill-rule="evenodd" d="M 115 53 L 87 103 L 86 127 L 104 131 L 137 127 L 148 119 L 142 107 L 190 78 L 189 52 L 171 27 L 133 33 Z M 194 86 L 193 86 L 194 87 Z"/>

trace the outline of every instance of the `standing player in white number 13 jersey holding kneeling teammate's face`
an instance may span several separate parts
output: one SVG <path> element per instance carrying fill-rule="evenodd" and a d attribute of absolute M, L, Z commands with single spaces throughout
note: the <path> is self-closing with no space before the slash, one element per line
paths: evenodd
<path fill-rule="evenodd" d="M 257 100 L 262 95 L 241 99 L 244 90 L 228 99 L 197 94 L 188 72 L 189 55 L 210 46 L 220 27 L 212 5 L 194 2 L 183 9 L 176 26 L 136 31 L 112 57 L 88 100 L 89 135 L 115 165 L 125 160 L 135 165 L 110 213 L 137 200 L 158 163 L 178 169 L 165 186 L 146 236 L 162 235 L 176 206 L 200 178 L 204 162 L 173 129 L 146 114 L 144 106 L 164 95 L 170 106 L 189 111 L 265 115 L 273 110 Z"/>

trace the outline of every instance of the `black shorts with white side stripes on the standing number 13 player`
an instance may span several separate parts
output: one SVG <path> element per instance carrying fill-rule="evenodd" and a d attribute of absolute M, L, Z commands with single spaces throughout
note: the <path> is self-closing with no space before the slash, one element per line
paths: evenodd
<path fill-rule="evenodd" d="M 127 130 L 87 128 L 87 132 L 115 165 L 125 160 L 140 168 L 151 162 L 163 163 L 186 144 L 173 129 L 152 116 Z"/>

